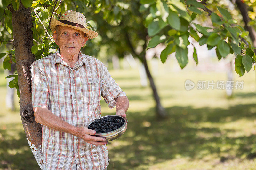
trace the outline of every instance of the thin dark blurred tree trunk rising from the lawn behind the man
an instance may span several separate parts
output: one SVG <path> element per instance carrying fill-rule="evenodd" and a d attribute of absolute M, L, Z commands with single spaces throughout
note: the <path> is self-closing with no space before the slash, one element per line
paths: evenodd
<path fill-rule="evenodd" d="M 145 67 L 145 70 L 146 70 L 146 73 L 147 73 L 147 76 L 148 76 L 148 80 L 149 80 L 151 89 L 153 91 L 153 97 L 156 101 L 156 114 L 158 115 L 159 118 L 164 118 L 164 117 L 167 116 L 166 111 L 165 111 L 164 107 L 161 105 L 160 98 L 159 98 L 157 90 L 156 90 L 156 85 L 155 85 L 153 77 L 151 76 L 151 73 L 148 69 L 148 63 L 147 63 L 147 60 L 146 60 L 146 55 L 143 56 L 142 63 Z"/>

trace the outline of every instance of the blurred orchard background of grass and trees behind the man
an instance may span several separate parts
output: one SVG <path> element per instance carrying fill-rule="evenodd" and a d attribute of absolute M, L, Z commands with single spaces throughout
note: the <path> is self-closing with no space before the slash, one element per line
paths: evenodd
<path fill-rule="evenodd" d="M 0 2 L 1 9 L 5 1 Z M 34 31 L 33 34 L 36 46 L 33 53 L 39 59 L 57 48 L 50 42 L 51 36 L 47 40 L 50 46 L 46 48 L 43 37 L 51 8 L 54 2 L 61 1 L 31 2 L 32 21 L 34 28 L 38 29 L 38 33 Z M 47 2 L 49 8 L 44 4 Z M 146 9 L 152 2 L 156 3 L 155 8 Z M 66 10 L 85 14 L 89 28 L 99 35 L 87 41 L 81 51 L 108 67 L 130 101 L 126 132 L 107 145 L 108 169 L 256 169 L 254 67 L 239 77 L 234 69 L 234 54 L 219 58 L 216 47 L 207 46 L 206 41 L 200 46 L 198 40 L 191 36 L 187 46 L 188 64 L 181 69 L 175 53 L 168 55 L 163 64 L 161 52 L 166 43 L 157 43 L 156 47 L 146 49 L 150 41 L 147 27 L 153 22 L 152 15 L 158 15 L 157 4 L 161 2 L 66 0 L 57 11 L 60 15 Z M 244 2 L 248 7 L 250 26 L 255 27 L 255 0 Z M 213 11 L 217 10 L 216 5 L 227 9 L 237 24 L 247 25 L 235 1 L 209 0 L 207 3 Z M 9 11 L 5 12 L 8 14 Z M 214 27 L 207 13 L 197 16 L 200 17 L 193 22 Z M 180 14 L 179 18 L 182 20 Z M 12 28 L 8 24 L 10 19 L 5 16 L 3 22 L 6 27 L 0 29 L 0 38 L 13 39 Z M 180 33 L 168 29 L 163 28 L 159 34 L 168 32 L 170 36 L 176 36 Z M 198 32 L 197 36 L 199 39 L 204 35 Z M 248 33 L 243 36 L 249 39 Z M 250 43 L 253 44 L 252 41 Z M 5 78 L 16 72 L 12 41 L 5 41 L 4 45 L 0 46 L 0 52 L 8 56 L 1 59 L 3 65 L 0 66 L 0 169 L 39 169 L 21 123 L 16 89 L 8 87 L 12 78 Z M 198 64 L 193 56 L 194 49 Z M 109 109 L 102 99 L 101 114 L 114 113 L 115 108 Z"/>

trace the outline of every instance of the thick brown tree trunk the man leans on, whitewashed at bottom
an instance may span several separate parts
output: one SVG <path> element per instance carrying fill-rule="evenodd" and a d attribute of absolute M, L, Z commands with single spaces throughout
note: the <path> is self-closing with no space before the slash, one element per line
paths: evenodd
<path fill-rule="evenodd" d="M 7 7 L 12 12 L 13 44 L 15 46 L 16 66 L 20 91 L 20 116 L 31 151 L 41 169 L 44 168 L 42 154 L 42 129 L 36 123 L 32 108 L 30 65 L 35 61 L 31 53 L 33 46 L 33 27 L 30 8 L 26 9 L 20 1 L 15 11 L 12 4 Z"/>

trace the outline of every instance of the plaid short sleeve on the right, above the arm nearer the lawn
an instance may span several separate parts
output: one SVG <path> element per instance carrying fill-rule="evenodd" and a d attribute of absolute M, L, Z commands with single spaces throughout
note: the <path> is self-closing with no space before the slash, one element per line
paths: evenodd
<path fill-rule="evenodd" d="M 102 78 L 101 78 L 101 96 L 108 104 L 109 108 L 116 106 L 115 98 L 119 96 L 126 96 L 125 92 L 117 85 L 115 80 L 111 77 L 107 67 L 103 64 Z"/>

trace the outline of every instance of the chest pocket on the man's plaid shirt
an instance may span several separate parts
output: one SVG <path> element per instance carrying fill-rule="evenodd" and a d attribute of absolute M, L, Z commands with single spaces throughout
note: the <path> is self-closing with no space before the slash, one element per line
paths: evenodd
<path fill-rule="evenodd" d="M 100 84 L 97 82 L 85 82 L 83 84 L 82 101 L 85 105 L 94 105 L 99 103 Z"/>

